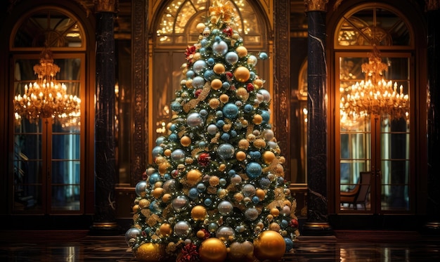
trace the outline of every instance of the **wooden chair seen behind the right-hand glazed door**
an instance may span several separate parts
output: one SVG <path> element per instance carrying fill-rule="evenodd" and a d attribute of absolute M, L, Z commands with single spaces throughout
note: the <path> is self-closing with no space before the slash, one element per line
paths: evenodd
<path fill-rule="evenodd" d="M 370 192 L 370 178 L 371 172 L 363 171 L 359 176 L 358 183 L 348 192 L 341 192 L 341 204 L 353 204 L 354 209 L 357 209 L 358 204 L 362 204 L 366 209 L 366 202 L 368 200 L 368 192 Z"/>

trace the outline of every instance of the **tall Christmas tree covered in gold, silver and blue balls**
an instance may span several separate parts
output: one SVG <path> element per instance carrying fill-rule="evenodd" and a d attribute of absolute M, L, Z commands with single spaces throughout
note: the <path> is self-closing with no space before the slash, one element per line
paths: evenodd
<path fill-rule="evenodd" d="M 269 124 L 271 96 L 215 1 L 186 49 L 167 136 L 136 185 L 125 237 L 138 261 L 278 261 L 299 235 L 296 202 Z"/>

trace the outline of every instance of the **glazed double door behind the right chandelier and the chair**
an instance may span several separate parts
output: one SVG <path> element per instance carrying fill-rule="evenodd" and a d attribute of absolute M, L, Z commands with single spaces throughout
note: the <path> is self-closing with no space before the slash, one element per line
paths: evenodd
<path fill-rule="evenodd" d="M 359 63 L 366 58 L 356 58 L 339 53 L 337 65 L 337 98 L 347 96 L 351 85 L 363 80 L 358 73 Z M 389 54 L 382 58 L 393 70 L 384 74 L 385 79 L 403 86 L 408 93 L 410 86 L 410 58 L 405 54 Z M 349 77 L 347 77 L 349 76 Z M 342 108 L 342 105 L 340 106 Z M 411 209 L 410 194 L 410 118 L 390 115 L 347 114 L 340 110 L 336 117 L 337 187 L 336 197 L 340 213 L 405 213 Z M 338 170 L 339 169 L 339 170 Z M 361 173 L 370 172 L 370 189 L 365 201 L 353 201 L 345 197 L 358 187 Z"/>

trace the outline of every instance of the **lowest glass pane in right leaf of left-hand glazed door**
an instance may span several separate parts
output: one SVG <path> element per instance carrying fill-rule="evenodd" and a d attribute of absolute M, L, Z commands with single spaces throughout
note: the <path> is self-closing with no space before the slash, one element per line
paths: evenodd
<path fill-rule="evenodd" d="M 80 209 L 79 185 L 56 185 L 52 187 L 52 210 Z"/>

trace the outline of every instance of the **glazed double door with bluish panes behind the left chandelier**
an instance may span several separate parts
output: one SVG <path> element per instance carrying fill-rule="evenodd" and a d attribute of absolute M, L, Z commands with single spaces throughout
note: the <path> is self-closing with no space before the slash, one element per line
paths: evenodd
<path fill-rule="evenodd" d="M 68 94 L 82 97 L 84 55 L 64 55 L 54 63 L 61 67 L 57 81 Z M 35 81 L 32 70 L 39 63 L 30 56 L 17 55 L 15 96 Z M 31 57 L 32 58 L 32 57 Z M 14 116 L 13 129 L 13 212 L 25 214 L 79 213 L 84 207 L 84 139 L 81 114 L 34 121 Z"/>

